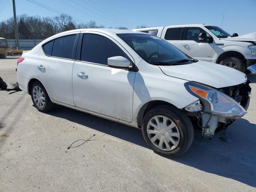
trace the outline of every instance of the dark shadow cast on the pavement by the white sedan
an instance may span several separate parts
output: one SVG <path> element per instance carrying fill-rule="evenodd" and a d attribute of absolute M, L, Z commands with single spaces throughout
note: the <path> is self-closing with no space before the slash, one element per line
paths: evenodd
<path fill-rule="evenodd" d="M 148 148 L 139 129 L 62 106 L 48 114 Z M 190 149 L 178 158 L 169 159 L 256 187 L 255 136 L 256 125 L 245 119 L 217 132 L 212 140 L 202 138 L 201 131 L 195 130 Z"/>

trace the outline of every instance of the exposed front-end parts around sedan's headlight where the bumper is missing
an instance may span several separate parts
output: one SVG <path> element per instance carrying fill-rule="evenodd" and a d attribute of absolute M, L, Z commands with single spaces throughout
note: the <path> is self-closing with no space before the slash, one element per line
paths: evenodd
<path fill-rule="evenodd" d="M 243 84 L 236 86 L 219 88 L 218 91 L 225 93 L 236 100 L 245 110 L 248 109 L 250 103 L 251 87 L 250 81 L 247 80 Z M 190 104 L 186 108 L 194 128 L 202 130 L 202 136 L 212 138 L 217 130 L 227 128 L 239 118 L 227 118 L 204 112 L 204 106 L 200 100 Z"/>

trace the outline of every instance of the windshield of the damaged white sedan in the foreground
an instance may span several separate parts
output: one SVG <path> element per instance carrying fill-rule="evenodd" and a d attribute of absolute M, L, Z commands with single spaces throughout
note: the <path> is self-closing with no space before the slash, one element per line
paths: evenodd
<path fill-rule="evenodd" d="M 170 65 L 190 62 L 192 58 L 186 56 L 172 44 L 156 36 L 148 34 L 117 34 L 141 58 L 150 64 Z M 188 64 L 188 63 L 186 63 Z"/>

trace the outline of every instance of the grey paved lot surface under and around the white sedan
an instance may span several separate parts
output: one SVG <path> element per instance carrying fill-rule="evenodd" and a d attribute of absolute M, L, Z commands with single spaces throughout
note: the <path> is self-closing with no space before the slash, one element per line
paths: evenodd
<path fill-rule="evenodd" d="M 8 86 L 16 60 L 0 59 Z M 136 128 L 61 106 L 41 113 L 28 94 L 0 91 L 0 191 L 256 191 L 256 76 L 248 78 L 248 114 L 212 140 L 195 130 L 174 159 L 150 150 Z"/>

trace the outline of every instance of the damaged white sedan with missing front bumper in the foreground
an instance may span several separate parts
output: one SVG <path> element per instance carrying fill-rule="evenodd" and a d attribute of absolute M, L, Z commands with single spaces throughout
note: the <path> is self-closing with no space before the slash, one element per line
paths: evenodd
<path fill-rule="evenodd" d="M 188 150 L 193 126 L 211 138 L 244 116 L 250 101 L 244 73 L 130 30 L 56 34 L 22 54 L 17 72 L 39 111 L 59 104 L 141 128 L 148 146 L 166 156 Z"/>

